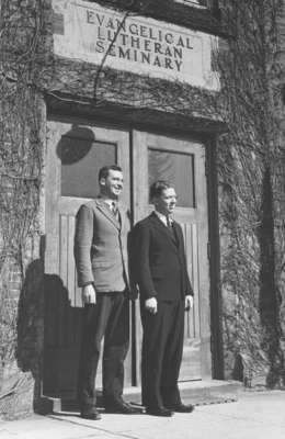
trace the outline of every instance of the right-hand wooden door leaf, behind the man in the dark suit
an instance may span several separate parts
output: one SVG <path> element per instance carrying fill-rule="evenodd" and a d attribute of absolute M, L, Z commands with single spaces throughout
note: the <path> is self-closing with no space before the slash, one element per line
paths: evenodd
<path fill-rule="evenodd" d="M 194 290 L 194 307 L 185 313 L 185 335 L 180 381 L 210 376 L 208 218 L 203 144 L 134 132 L 135 222 L 146 216 L 148 188 L 157 179 L 169 180 L 178 192 L 174 218 L 181 224 L 187 271 Z M 141 337 L 140 331 L 137 334 Z M 138 352 L 139 353 L 139 352 Z"/>

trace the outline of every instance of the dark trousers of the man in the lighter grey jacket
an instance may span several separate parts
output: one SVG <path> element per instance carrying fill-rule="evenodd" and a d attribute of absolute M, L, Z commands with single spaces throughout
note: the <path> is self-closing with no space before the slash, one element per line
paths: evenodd
<path fill-rule="evenodd" d="M 129 305 L 122 292 L 98 293 L 96 304 L 84 306 L 78 380 L 81 409 L 96 404 L 95 378 L 103 337 L 103 401 L 112 405 L 122 399 L 129 345 Z"/>

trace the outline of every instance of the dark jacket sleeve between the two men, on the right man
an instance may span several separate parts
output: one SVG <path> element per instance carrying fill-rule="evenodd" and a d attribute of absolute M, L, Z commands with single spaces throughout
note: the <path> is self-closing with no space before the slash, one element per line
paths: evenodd
<path fill-rule="evenodd" d="M 156 297 L 157 292 L 152 281 L 149 264 L 150 229 L 138 223 L 133 230 L 132 255 L 133 275 L 139 286 L 139 294 L 145 300 Z"/>

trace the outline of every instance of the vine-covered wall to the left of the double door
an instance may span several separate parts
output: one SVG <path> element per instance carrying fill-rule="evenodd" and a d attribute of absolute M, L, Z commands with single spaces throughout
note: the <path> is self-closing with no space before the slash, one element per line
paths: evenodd
<path fill-rule="evenodd" d="M 0 417 L 32 413 L 43 351 L 43 156 L 45 104 L 42 1 L 0 9 Z"/>

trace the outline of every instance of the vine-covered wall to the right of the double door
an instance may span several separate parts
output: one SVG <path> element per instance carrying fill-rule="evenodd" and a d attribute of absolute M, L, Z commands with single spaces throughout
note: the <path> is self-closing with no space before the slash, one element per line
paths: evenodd
<path fill-rule="evenodd" d="M 231 38 L 221 52 L 219 139 L 226 376 L 284 384 L 284 130 L 282 1 L 221 2 Z"/>

